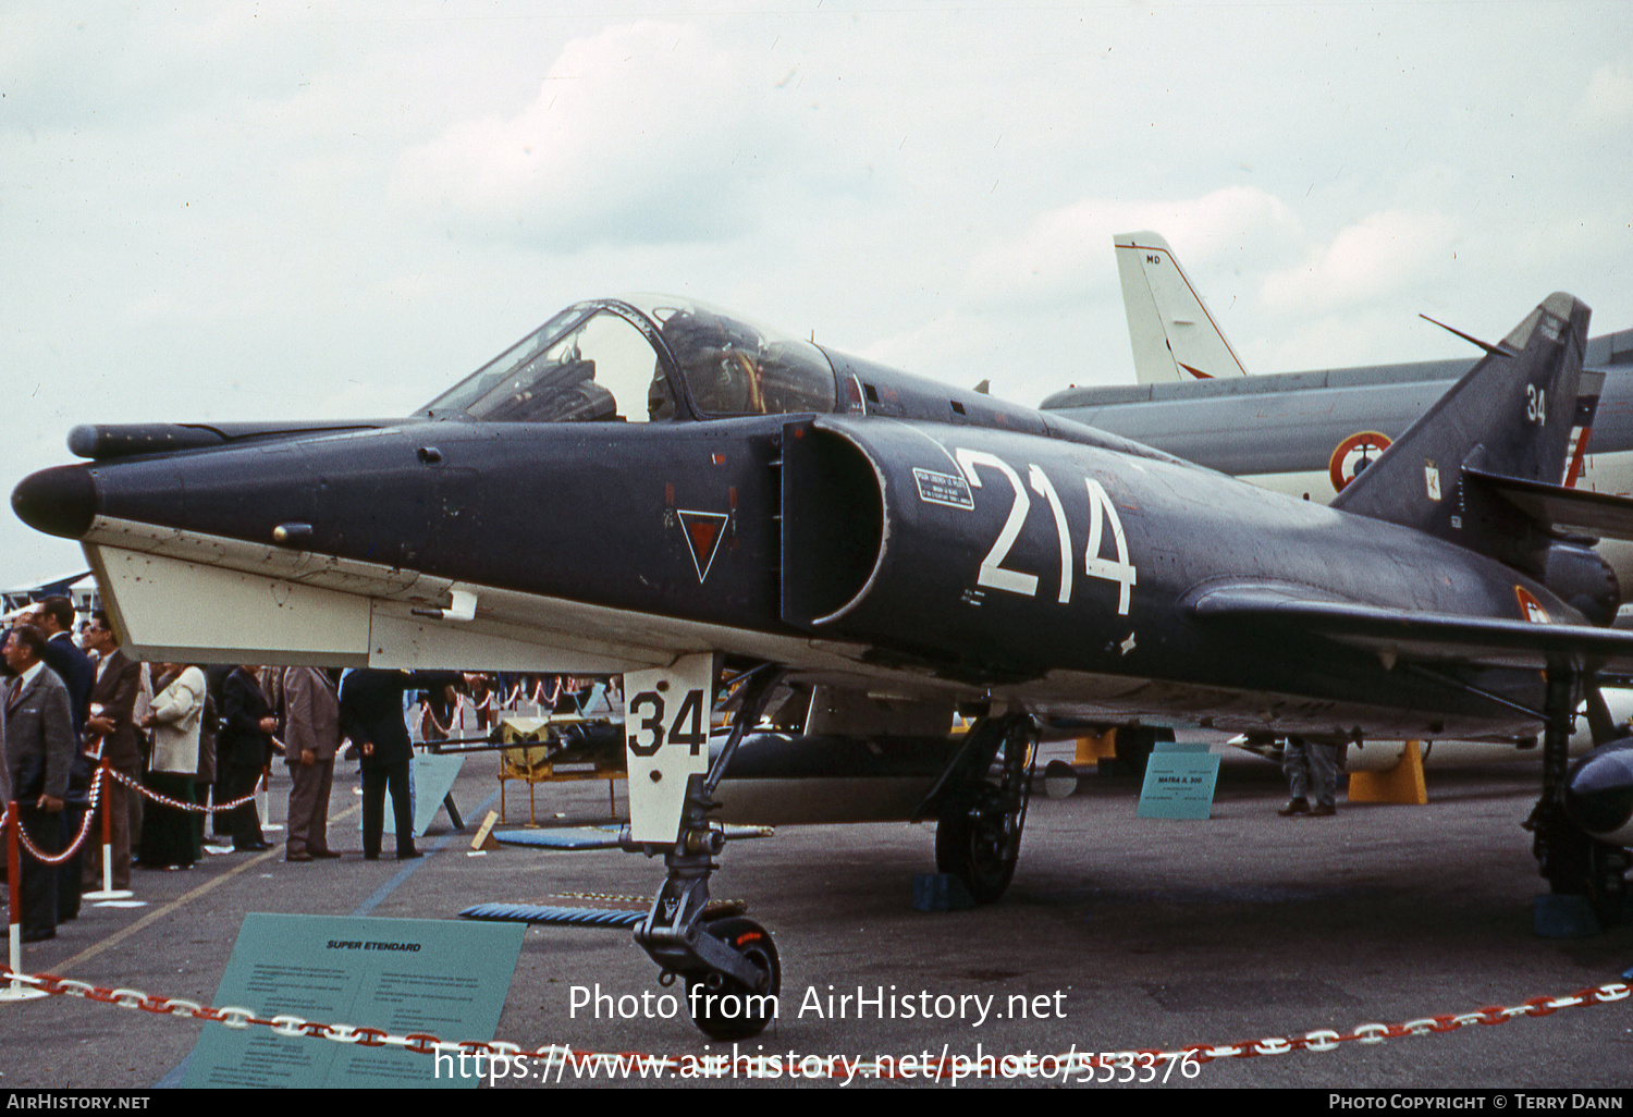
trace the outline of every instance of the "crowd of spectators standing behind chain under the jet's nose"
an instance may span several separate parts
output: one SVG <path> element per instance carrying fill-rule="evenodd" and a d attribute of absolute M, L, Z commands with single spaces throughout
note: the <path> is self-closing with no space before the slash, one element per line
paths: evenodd
<path fill-rule="evenodd" d="M 75 634 L 69 598 L 21 609 L 0 658 L 10 676 L 0 802 L 15 802 L 28 841 L 56 856 L 80 834 L 105 759 L 113 779 L 100 795 L 114 888 L 129 888 L 132 867 L 193 867 L 207 826 L 234 851 L 271 849 L 255 790 L 276 756 L 291 776 L 286 862 L 340 857 L 328 841 L 328 800 L 343 754 L 361 768 L 363 856 L 380 856 L 389 792 L 397 857 L 418 857 L 407 710 L 423 701 L 420 737 L 441 740 L 483 733 L 503 709 L 576 712 L 616 692 L 594 679 L 139 663 L 119 650 L 101 609 Z M 103 880 L 101 857 L 100 834 L 60 866 L 24 854 L 24 941 L 54 937 L 59 921 L 78 915 L 82 890 Z"/>

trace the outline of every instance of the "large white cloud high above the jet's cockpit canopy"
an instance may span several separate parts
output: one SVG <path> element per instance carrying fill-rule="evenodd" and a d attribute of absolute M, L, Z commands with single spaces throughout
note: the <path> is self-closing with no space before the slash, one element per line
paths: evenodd
<path fill-rule="evenodd" d="M 514 116 L 457 121 L 408 150 L 398 188 L 456 224 L 572 251 L 730 237 L 782 162 L 774 80 L 689 24 L 570 41 Z"/>

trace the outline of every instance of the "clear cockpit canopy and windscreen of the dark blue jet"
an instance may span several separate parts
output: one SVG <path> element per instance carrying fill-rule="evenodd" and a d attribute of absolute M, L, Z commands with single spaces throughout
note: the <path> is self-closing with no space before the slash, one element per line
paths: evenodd
<path fill-rule="evenodd" d="M 833 412 L 815 345 L 670 296 L 562 310 L 420 410 L 428 418 L 568 423 Z"/>

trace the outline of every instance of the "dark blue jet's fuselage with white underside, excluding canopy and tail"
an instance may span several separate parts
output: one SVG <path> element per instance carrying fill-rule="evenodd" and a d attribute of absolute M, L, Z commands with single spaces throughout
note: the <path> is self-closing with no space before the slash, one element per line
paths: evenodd
<path fill-rule="evenodd" d="M 59 500 L 57 514 L 75 521 L 116 601 L 139 576 L 132 563 L 171 555 L 196 568 L 211 545 L 219 565 L 247 572 L 258 555 L 299 557 L 284 578 L 296 586 L 333 585 L 323 573 L 336 558 L 395 572 L 398 606 L 423 612 L 443 586 L 464 586 L 478 617 L 554 629 L 560 647 L 591 632 L 552 621 L 562 611 L 549 603 L 598 611 L 603 642 L 619 639 L 617 617 L 645 617 L 665 632 L 658 643 L 740 634 L 823 676 L 1079 714 L 1172 717 L 1177 705 L 1236 728 L 1522 735 L 1528 719 L 1368 652 L 1221 629 L 1190 606 L 1275 570 L 1334 601 L 1519 617 L 1522 588 L 1550 616 L 1574 616 L 1540 583 L 1452 544 L 1159 454 L 913 420 L 425 421 L 64 470 L 83 477 L 59 478 L 59 496 L 70 483 L 83 496 L 72 514 Z M 274 542 L 279 531 L 289 542 Z M 253 616 L 235 624 L 271 634 Z M 426 647 L 461 625 L 408 624 Z M 366 653 L 325 661 L 434 655 L 380 637 L 379 607 L 359 625 Z M 467 668 L 521 666 L 461 655 L 474 656 Z M 1535 707 L 1532 673 L 1473 674 Z"/>

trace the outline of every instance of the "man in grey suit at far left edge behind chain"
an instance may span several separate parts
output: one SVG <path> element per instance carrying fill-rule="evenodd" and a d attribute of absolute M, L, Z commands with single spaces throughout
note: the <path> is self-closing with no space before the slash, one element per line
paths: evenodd
<path fill-rule="evenodd" d="M 60 849 L 62 802 L 69 794 L 69 769 L 77 748 L 69 688 L 41 655 L 46 637 L 21 625 L 7 637 L 7 666 L 16 679 L 7 688 L 5 741 L 23 830 L 42 852 Z M 41 866 L 23 852 L 23 941 L 36 942 L 57 934 L 57 869 Z"/>

